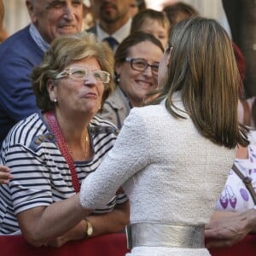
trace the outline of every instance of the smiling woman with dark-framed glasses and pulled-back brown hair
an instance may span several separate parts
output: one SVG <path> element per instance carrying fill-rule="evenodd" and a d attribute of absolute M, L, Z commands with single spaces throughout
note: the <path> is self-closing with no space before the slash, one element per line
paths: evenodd
<path fill-rule="evenodd" d="M 116 88 L 106 100 L 101 116 L 119 129 L 131 108 L 142 107 L 157 88 L 160 58 L 164 49 L 153 35 L 135 32 L 119 44 L 114 55 Z"/>

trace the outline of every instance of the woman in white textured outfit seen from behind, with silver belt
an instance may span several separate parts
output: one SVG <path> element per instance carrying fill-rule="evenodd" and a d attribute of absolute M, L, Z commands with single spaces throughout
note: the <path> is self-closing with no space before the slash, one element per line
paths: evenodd
<path fill-rule="evenodd" d="M 238 78 L 217 21 L 196 17 L 172 28 L 160 61 L 160 104 L 131 109 L 79 195 L 84 209 L 94 209 L 123 187 L 131 204 L 128 255 L 210 255 L 204 226 L 236 144 L 248 143 L 237 121 Z"/>

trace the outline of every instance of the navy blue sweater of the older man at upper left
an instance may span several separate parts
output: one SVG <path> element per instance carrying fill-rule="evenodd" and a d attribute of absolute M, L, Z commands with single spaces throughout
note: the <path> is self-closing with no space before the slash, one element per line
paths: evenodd
<path fill-rule="evenodd" d="M 30 77 L 43 56 L 29 26 L 0 45 L 0 147 L 10 128 L 37 110 Z"/>

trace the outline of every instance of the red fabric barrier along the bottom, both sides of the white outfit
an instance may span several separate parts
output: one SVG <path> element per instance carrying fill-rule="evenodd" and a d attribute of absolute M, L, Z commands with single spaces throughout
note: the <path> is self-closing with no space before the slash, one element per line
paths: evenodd
<path fill-rule="evenodd" d="M 124 256 L 125 234 L 111 234 L 84 241 L 70 241 L 60 248 L 32 247 L 23 236 L 0 236 L 1 256 Z M 247 236 L 233 247 L 211 249 L 212 256 L 255 256 L 256 236 Z"/>

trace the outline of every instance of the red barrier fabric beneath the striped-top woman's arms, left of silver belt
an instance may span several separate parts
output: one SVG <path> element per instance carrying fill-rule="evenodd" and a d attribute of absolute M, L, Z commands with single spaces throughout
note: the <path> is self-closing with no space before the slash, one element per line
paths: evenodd
<path fill-rule="evenodd" d="M 110 234 L 84 241 L 70 241 L 60 248 L 32 247 L 23 236 L 0 236 L 1 256 L 124 256 L 125 234 Z"/>

